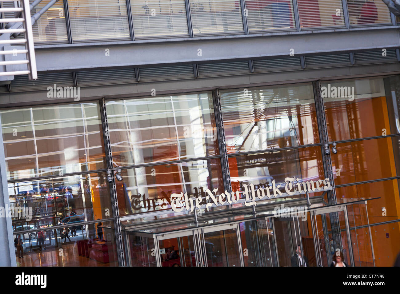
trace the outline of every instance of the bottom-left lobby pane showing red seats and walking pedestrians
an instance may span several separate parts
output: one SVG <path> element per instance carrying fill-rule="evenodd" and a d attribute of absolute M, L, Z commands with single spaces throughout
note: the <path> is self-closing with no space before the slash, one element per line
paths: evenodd
<path fill-rule="evenodd" d="M 118 266 L 112 222 L 84 225 L 76 235 L 70 225 L 54 230 L 30 226 L 43 230 L 18 234 L 14 229 L 17 266 Z M 102 234 L 99 237 L 100 230 Z M 67 231 L 67 240 L 70 238 L 71 241 L 63 243 Z"/>

